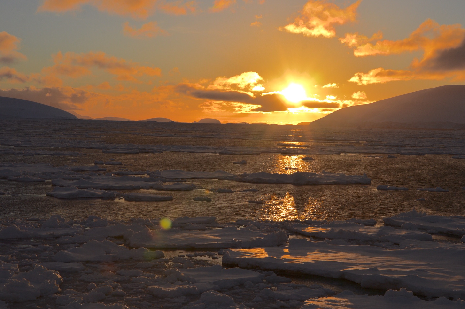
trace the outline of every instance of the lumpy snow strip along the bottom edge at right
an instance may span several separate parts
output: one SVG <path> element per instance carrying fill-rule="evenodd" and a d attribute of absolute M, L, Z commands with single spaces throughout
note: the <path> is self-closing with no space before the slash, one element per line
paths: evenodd
<path fill-rule="evenodd" d="M 440 297 L 433 301 L 425 301 L 413 296 L 411 291 L 387 290 L 384 296 L 355 295 L 352 291 L 343 291 L 336 296 L 309 299 L 301 309 L 454 309 L 465 308 L 464 301 L 451 301 Z"/>

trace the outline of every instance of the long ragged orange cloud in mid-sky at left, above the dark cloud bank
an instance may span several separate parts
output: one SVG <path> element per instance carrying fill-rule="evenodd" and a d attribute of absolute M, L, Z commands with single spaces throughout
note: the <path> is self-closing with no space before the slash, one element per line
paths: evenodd
<path fill-rule="evenodd" d="M 116 75 L 116 79 L 118 80 L 137 81 L 135 77 L 142 75 L 150 77 L 161 75 L 161 70 L 158 67 L 140 66 L 138 63 L 132 61 L 107 56 L 103 52 L 80 54 L 73 52 L 62 54 L 58 52 L 52 58 L 55 64 L 43 68 L 43 74 L 78 78 L 90 74 L 91 68 L 98 68 Z"/>

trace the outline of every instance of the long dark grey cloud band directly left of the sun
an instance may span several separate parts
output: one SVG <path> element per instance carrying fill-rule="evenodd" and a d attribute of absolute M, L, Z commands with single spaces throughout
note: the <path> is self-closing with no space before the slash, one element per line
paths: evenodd
<path fill-rule="evenodd" d="M 254 112 L 282 112 L 287 110 L 287 106 L 284 104 L 284 97 L 277 93 L 252 97 L 245 92 L 237 90 L 204 90 L 189 84 L 179 84 L 175 90 L 197 99 L 260 105 L 260 107 L 253 110 Z"/>

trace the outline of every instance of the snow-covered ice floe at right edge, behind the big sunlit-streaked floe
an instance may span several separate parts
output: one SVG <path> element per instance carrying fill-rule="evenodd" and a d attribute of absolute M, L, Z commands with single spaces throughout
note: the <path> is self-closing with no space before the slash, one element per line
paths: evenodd
<path fill-rule="evenodd" d="M 428 233 L 445 233 L 456 236 L 465 235 L 465 217 L 462 216 L 436 216 L 425 212 L 412 210 L 402 212 L 394 217 L 383 219 L 385 224 L 398 226 L 406 230 L 426 230 Z"/>

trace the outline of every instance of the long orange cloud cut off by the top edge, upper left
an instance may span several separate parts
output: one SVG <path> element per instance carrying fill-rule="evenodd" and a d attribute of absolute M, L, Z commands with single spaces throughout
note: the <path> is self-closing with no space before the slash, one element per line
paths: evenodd
<path fill-rule="evenodd" d="M 99 11 L 130 15 L 133 18 L 146 19 L 157 9 L 168 14 L 185 15 L 196 10 L 196 2 L 166 2 L 164 0 L 44 0 L 37 11 L 63 13 L 80 10 L 84 5 L 97 7 Z"/>

